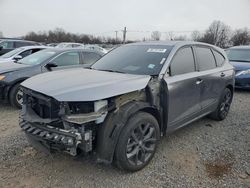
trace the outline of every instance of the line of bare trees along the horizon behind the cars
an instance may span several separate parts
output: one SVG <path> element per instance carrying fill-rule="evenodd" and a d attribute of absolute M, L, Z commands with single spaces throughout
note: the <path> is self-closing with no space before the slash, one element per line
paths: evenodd
<path fill-rule="evenodd" d="M 0 36 L 2 33 L 0 32 Z M 150 39 L 143 40 L 161 40 L 161 32 L 153 31 Z M 25 40 L 32 40 L 41 43 L 59 43 L 59 42 L 78 42 L 84 44 L 120 44 L 122 41 L 119 38 L 100 37 L 87 34 L 74 34 L 64 31 L 61 28 L 56 28 L 50 31 L 29 32 L 22 37 Z M 237 45 L 250 44 L 250 30 L 241 28 L 232 30 L 230 26 L 221 21 L 213 21 L 204 31 L 193 31 L 189 37 L 186 35 L 175 36 L 174 32 L 169 32 L 167 39 L 169 40 L 193 40 L 206 42 L 227 48 Z M 126 41 L 126 43 L 133 41 Z"/>

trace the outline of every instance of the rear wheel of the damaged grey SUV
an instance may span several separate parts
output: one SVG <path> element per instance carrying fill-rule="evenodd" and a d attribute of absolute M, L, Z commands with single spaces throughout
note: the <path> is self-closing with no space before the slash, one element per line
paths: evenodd
<path fill-rule="evenodd" d="M 222 93 L 217 109 L 214 112 L 212 112 L 209 115 L 209 117 L 216 121 L 224 120 L 227 117 L 227 114 L 230 110 L 232 99 L 233 99 L 232 91 L 229 88 L 226 88 Z"/>

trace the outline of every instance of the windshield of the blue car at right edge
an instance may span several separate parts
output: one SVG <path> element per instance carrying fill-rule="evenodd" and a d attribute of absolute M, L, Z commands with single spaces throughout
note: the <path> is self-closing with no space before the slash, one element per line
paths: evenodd
<path fill-rule="evenodd" d="M 229 61 L 250 62 L 250 49 L 226 50 Z"/>

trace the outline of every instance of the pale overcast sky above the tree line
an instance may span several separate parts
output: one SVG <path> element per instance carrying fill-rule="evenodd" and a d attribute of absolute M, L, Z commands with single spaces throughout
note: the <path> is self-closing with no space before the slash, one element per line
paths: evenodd
<path fill-rule="evenodd" d="M 0 0 L 0 31 L 19 37 L 30 31 L 62 28 L 95 36 L 141 40 L 152 31 L 188 35 L 213 20 L 232 29 L 250 29 L 250 0 Z"/>

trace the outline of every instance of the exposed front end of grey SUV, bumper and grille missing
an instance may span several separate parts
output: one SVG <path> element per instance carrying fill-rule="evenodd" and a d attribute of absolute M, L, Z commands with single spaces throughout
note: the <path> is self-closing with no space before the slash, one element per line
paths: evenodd
<path fill-rule="evenodd" d="M 34 147 L 73 156 L 93 150 L 97 126 L 108 113 L 107 100 L 58 102 L 27 88 L 23 92 L 20 126 Z"/>

